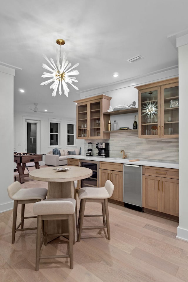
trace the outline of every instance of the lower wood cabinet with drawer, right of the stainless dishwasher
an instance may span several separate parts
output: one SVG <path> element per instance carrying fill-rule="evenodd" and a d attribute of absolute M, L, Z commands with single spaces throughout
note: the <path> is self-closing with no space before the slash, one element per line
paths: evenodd
<path fill-rule="evenodd" d="M 179 170 L 142 167 L 142 207 L 179 216 Z"/>

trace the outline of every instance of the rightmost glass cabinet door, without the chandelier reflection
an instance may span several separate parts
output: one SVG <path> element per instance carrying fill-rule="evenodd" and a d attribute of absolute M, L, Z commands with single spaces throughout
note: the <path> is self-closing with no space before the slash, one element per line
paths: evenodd
<path fill-rule="evenodd" d="M 179 134 L 179 97 L 178 85 L 173 87 L 163 87 L 163 101 L 162 113 L 164 115 L 164 132 L 162 135 L 178 135 Z"/>

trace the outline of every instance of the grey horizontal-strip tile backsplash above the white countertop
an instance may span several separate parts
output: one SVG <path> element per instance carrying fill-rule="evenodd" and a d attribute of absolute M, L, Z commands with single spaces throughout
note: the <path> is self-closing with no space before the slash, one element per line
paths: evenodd
<path fill-rule="evenodd" d="M 138 132 L 110 133 L 110 139 L 92 139 L 84 143 L 84 154 L 88 149 L 88 142 L 93 144 L 93 156 L 98 149 L 96 143 L 109 142 L 110 157 L 122 158 L 121 150 L 125 151 L 128 159 L 147 159 L 178 162 L 178 138 L 138 138 Z"/>

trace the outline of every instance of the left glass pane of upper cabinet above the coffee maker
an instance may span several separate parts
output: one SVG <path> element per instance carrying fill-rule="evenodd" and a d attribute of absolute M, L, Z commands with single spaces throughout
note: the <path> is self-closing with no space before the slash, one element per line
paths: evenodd
<path fill-rule="evenodd" d="M 78 106 L 78 137 L 87 137 L 87 104 Z"/>

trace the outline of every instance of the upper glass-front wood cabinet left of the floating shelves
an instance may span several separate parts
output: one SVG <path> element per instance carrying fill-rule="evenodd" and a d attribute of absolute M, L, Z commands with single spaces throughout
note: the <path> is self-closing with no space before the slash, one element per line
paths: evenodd
<path fill-rule="evenodd" d="M 77 103 L 77 139 L 109 139 L 110 134 L 103 131 L 108 130 L 110 115 L 104 112 L 110 107 L 112 98 L 107 95 L 98 95 L 74 101 Z"/>

